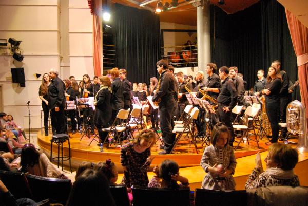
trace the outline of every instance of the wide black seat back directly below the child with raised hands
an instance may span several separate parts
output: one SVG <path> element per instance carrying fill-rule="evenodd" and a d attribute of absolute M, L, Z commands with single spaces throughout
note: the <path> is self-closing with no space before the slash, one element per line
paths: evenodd
<path fill-rule="evenodd" d="M 133 206 L 189 206 L 190 189 L 169 190 L 134 186 Z"/>

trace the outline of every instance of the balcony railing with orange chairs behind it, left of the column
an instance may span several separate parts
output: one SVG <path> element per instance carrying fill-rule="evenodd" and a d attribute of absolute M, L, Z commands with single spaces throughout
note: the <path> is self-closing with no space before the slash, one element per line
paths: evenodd
<path fill-rule="evenodd" d="M 198 66 L 197 44 L 185 46 L 162 47 L 161 56 L 175 67 Z"/>

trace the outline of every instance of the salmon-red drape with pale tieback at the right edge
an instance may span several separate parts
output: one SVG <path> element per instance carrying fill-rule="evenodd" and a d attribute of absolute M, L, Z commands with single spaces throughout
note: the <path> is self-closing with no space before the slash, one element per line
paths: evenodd
<path fill-rule="evenodd" d="M 308 117 L 308 29 L 287 9 L 285 14 L 297 57 L 300 96 Z"/>

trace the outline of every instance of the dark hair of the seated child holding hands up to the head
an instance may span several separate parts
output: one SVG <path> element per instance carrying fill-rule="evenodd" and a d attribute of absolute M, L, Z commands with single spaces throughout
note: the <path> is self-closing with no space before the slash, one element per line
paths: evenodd
<path fill-rule="evenodd" d="M 179 173 L 179 165 L 177 162 L 166 159 L 160 165 L 159 176 L 165 182 L 169 189 L 179 189 L 179 185 L 175 180 L 171 179 L 171 175 Z"/>

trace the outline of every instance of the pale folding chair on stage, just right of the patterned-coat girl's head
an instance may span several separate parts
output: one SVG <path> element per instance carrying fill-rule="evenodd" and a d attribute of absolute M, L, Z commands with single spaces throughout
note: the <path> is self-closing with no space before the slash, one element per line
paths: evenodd
<path fill-rule="evenodd" d="M 254 121 L 255 119 L 257 118 L 258 114 L 259 114 L 259 111 L 260 109 L 257 109 L 257 108 L 253 108 L 251 106 L 248 106 L 245 110 L 245 113 L 243 115 L 243 117 L 241 118 L 240 122 L 239 123 L 243 123 L 244 122 L 244 119 L 246 118 L 246 116 L 248 117 L 252 117 L 253 120 L 252 121 L 247 121 L 247 125 L 245 124 L 238 124 L 238 125 L 233 125 L 233 128 L 235 130 L 241 130 L 241 131 L 244 131 L 244 134 L 243 136 L 241 137 L 238 145 L 235 147 L 235 150 L 238 148 L 238 146 L 240 145 L 241 141 L 244 142 L 243 138 L 244 136 L 246 135 L 247 137 L 247 141 L 248 141 L 248 145 L 249 145 L 249 135 L 248 135 L 248 130 L 251 130 L 253 129 L 254 130 L 254 133 L 255 133 L 255 137 L 256 137 L 256 142 L 257 142 L 257 145 L 258 145 L 258 149 L 260 148 L 259 147 L 259 143 L 258 143 L 258 138 L 257 138 L 257 135 L 256 135 L 256 132 L 255 132 L 255 127 L 253 126 L 254 125 Z M 252 140 L 252 139 L 251 139 Z"/>

